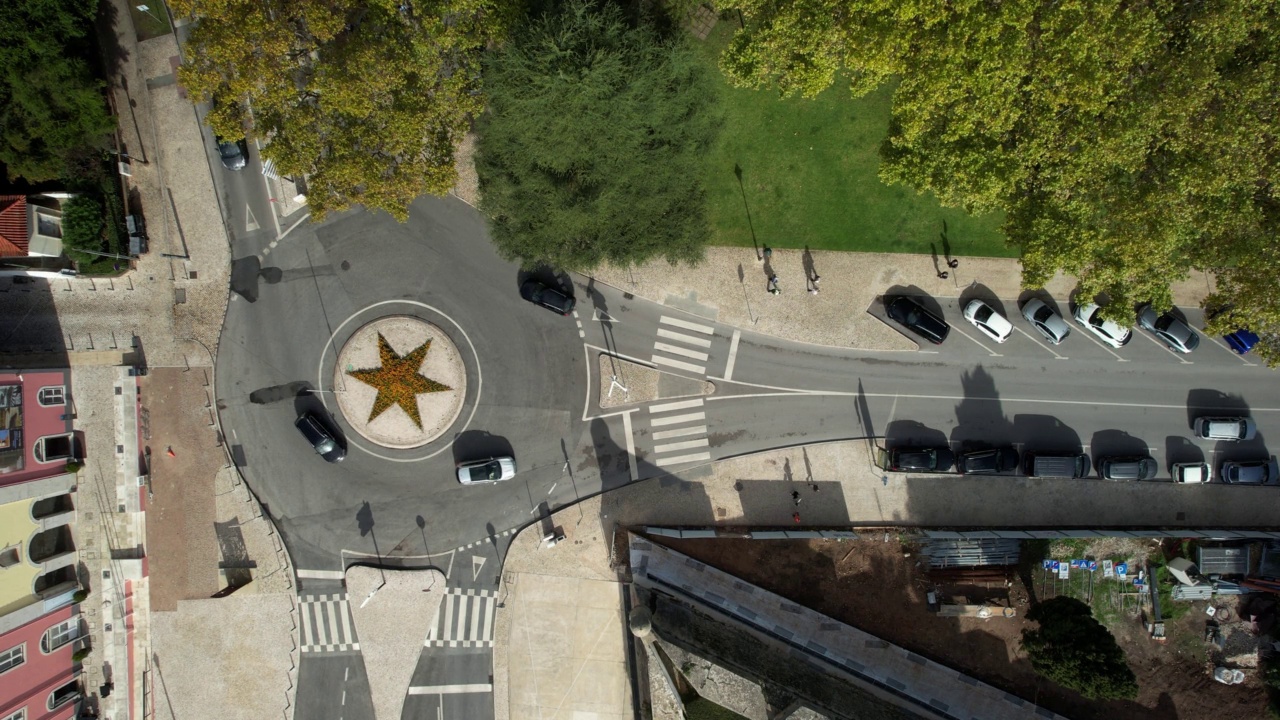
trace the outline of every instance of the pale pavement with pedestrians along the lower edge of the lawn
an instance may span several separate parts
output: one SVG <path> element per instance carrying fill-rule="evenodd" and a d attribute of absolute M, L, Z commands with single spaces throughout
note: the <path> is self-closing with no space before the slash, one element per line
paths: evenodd
<path fill-rule="evenodd" d="M 803 250 L 773 250 L 768 261 L 750 247 L 708 247 L 696 268 L 672 266 L 657 260 L 639 268 L 600 266 L 596 281 L 626 292 L 689 309 L 696 304 L 708 318 L 746 331 L 797 342 L 859 350 L 915 350 L 914 341 L 865 310 L 878 295 L 896 288 L 934 297 L 959 297 L 973 283 L 1004 300 L 1019 300 L 1021 263 L 1005 258 L 959 258 L 946 279 L 938 278 L 928 255 L 835 252 L 818 250 L 805 260 Z M 819 293 L 810 295 L 806 265 L 820 277 Z M 771 295 L 767 283 L 778 275 L 782 292 Z M 740 279 L 741 278 L 741 279 Z M 1210 293 L 1211 278 L 1193 273 L 1174 286 L 1174 300 L 1198 306 Z M 1046 291 L 1066 307 L 1075 278 L 1059 274 Z M 1012 304 L 1011 304 L 1012 305 Z"/>

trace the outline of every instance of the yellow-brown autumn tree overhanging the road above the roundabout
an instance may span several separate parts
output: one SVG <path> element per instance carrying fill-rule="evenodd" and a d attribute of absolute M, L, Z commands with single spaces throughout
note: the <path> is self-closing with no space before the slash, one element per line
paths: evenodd
<path fill-rule="evenodd" d="M 516 0 L 174 0 L 198 22 L 178 78 L 212 101 L 220 136 L 266 141 L 307 176 L 320 219 L 353 204 L 408 217 L 456 181 L 453 151 L 483 108 L 480 56 Z"/>

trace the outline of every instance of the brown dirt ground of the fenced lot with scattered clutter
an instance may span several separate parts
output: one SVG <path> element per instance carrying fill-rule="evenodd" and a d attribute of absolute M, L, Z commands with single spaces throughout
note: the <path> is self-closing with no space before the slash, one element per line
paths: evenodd
<path fill-rule="evenodd" d="M 929 582 L 896 533 L 859 541 L 677 541 L 650 538 L 840 621 L 950 665 L 1074 720 L 1198 720 L 1266 716 L 1266 693 L 1252 671 L 1242 685 L 1208 675 L 1203 602 L 1166 623 L 1153 642 L 1133 603 L 1110 624 L 1138 678 L 1137 701 L 1091 701 L 1039 679 L 1019 648 L 1027 587 L 993 582 L 942 588 L 942 600 L 1007 603 L 1015 619 L 941 618 L 928 610 Z M 1034 589 L 1041 578 L 1033 573 Z M 1052 594 L 1048 588 L 1047 594 Z M 1221 602 L 1216 605 L 1222 605 Z M 1233 605 L 1228 602 L 1226 605 Z M 1234 610 L 1234 606 L 1233 606 Z M 1231 614 L 1235 618 L 1235 614 Z"/>

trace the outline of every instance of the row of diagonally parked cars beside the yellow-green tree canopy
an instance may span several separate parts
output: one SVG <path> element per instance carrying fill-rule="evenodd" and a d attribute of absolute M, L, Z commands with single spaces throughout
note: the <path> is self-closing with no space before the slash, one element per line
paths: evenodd
<path fill-rule="evenodd" d="M 884 309 L 895 322 L 934 345 L 942 345 L 951 332 L 951 325 L 946 320 L 909 295 L 886 297 Z M 1023 304 L 1021 314 L 1051 345 L 1060 345 L 1071 334 L 1071 327 L 1066 320 L 1043 300 L 1032 297 Z M 1078 305 L 1071 315 L 1082 328 L 1111 347 L 1124 347 L 1133 338 L 1130 328 L 1103 319 L 1102 307 L 1094 302 Z M 964 318 L 995 342 L 1005 342 L 1014 333 L 1012 323 L 982 300 L 970 300 L 964 306 Z M 1146 304 L 1138 307 L 1137 320 L 1175 352 L 1187 354 L 1199 347 L 1199 334 L 1171 311 L 1156 313 L 1151 304 Z M 1242 355 L 1258 341 L 1257 336 L 1248 331 L 1231 333 L 1226 340 L 1231 348 Z"/>

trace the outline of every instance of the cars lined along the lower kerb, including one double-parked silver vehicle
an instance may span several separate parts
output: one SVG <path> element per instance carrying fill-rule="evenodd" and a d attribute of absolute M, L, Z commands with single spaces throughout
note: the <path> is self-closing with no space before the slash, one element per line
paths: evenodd
<path fill-rule="evenodd" d="M 1248 441 L 1257 437 L 1252 418 L 1197 418 L 1193 427 L 1202 439 L 1222 442 Z M 950 473 L 955 468 L 964 475 L 998 475 L 1021 470 L 1030 478 L 1088 478 L 1093 462 L 1083 452 L 1024 452 L 1012 447 L 988 447 L 955 455 L 950 447 L 896 447 L 888 451 L 888 469 L 902 473 Z M 1103 480 L 1152 480 L 1160 464 L 1149 455 L 1108 455 L 1098 459 L 1098 478 Z M 1206 462 L 1174 462 L 1170 474 L 1175 483 L 1202 484 L 1212 482 Z M 1262 460 L 1229 460 L 1219 469 L 1224 483 L 1265 486 L 1280 483 L 1280 465 L 1275 457 Z"/>

